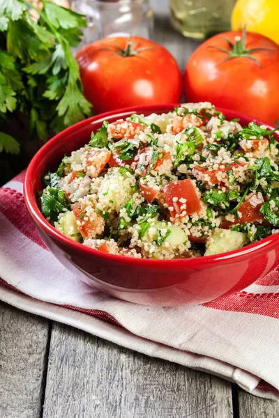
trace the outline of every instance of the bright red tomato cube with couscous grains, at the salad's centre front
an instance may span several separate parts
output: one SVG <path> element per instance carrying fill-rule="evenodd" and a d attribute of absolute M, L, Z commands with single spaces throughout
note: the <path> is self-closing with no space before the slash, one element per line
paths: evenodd
<path fill-rule="evenodd" d="M 192 215 L 202 209 L 197 191 L 190 178 L 165 185 L 163 194 L 172 217 Z"/>

